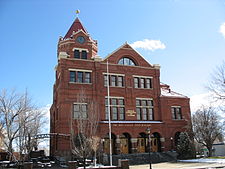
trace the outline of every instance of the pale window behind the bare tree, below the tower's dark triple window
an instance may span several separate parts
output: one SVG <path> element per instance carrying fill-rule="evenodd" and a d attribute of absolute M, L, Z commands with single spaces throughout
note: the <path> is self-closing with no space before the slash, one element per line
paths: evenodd
<path fill-rule="evenodd" d="M 73 104 L 73 118 L 74 119 L 87 119 L 87 103 L 74 103 Z"/>

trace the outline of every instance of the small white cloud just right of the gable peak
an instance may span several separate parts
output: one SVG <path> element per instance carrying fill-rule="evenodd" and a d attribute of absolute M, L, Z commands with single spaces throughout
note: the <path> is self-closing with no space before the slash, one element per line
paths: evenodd
<path fill-rule="evenodd" d="M 136 41 L 131 44 L 133 48 L 142 48 L 145 50 L 154 51 L 156 49 L 165 49 L 166 45 L 162 43 L 160 40 L 151 40 L 151 39 L 144 39 L 142 41 Z"/>

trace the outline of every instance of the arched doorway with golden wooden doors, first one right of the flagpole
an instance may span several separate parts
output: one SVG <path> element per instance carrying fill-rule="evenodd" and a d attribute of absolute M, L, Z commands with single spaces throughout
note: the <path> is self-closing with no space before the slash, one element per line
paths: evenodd
<path fill-rule="evenodd" d="M 129 154 L 131 153 L 131 136 L 129 133 L 123 133 L 120 137 L 120 153 Z"/>

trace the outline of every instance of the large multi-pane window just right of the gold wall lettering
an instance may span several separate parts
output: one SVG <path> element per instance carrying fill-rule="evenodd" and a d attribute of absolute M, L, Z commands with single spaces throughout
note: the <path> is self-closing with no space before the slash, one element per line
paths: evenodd
<path fill-rule="evenodd" d="M 154 120 L 152 99 L 136 99 L 137 120 Z"/>

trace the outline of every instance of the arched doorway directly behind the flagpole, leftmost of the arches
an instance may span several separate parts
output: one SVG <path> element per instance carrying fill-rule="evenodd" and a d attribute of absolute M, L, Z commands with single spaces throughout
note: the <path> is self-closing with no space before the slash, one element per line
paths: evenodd
<path fill-rule="evenodd" d="M 116 144 L 116 135 L 115 134 L 111 134 L 111 147 L 112 147 L 112 154 L 115 154 L 115 144 Z M 106 154 L 110 153 L 110 142 L 109 142 L 109 134 L 107 134 L 107 136 L 104 137 L 103 139 L 103 152 Z"/>

